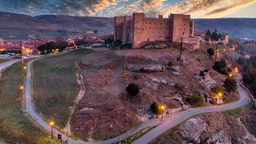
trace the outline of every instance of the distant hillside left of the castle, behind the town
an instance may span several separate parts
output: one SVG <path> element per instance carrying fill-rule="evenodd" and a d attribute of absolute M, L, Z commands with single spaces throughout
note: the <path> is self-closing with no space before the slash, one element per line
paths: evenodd
<path fill-rule="evenodd" d="M 86 31 L 113 32 L 112 18 L 75 17 L 68 15 L 21 15 L 0 12 L 0 37 L 27 39 L 29 34 L 37 38 L 59 35 L 85 35 Z"/>

